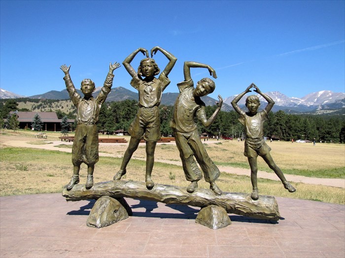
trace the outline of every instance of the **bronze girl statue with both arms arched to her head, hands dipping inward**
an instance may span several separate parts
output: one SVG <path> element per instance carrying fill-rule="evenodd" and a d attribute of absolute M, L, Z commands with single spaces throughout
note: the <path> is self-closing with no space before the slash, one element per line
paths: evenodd
<path fill-rule="evenodd" d="M 131 140 L 124 154 L 120 170 L 114 175 L 114 180 L 120 180 L 121 177 L 126 174 L 126 167 L 143 137 L 146 142 L 145 182 L 148 189 L 152 189 L 154 186 L 154 182 L 151 178 L 154 164 L 154 152 L 156 143 L 161 138 L 158 106 L 161 103 L 163 90 L 170 84 L 168 75 L 177 60 L 171 53 L 158 46 L 151 49 L 151 57 L 153 57 L 158 50 L 169 59 L 169 63 L 158 79 L 154 76 L 159 74 L 160 69 L 155 60 L 148 57 L 146 49 L 138 48 L 123 61 L 123 65 L 127 72 L 133 78 L 131 86 L 135 87 L 139 92 L 139 110 L 128 129 Z M 130 63 L 139 52 L 146 55 L 147 58 L 140 61 L 137 73 Z"/>

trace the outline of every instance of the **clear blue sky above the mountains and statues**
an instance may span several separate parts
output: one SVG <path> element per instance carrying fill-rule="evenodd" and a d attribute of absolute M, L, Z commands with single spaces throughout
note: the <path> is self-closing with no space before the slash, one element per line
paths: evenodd
<path fill-rule="evenodd" d="M 216 70 L 213 98 L 252 82 L 289 97 L 345 91 L 344 0 L 0 0 L 0 87 L 17 94 L 63 90 L 62 64 L 77 88 L 85 78 L 103 86 L 110 61 L 155 46 L 177 57 L 165 92 L 178 92 L 187 60 Z M 154 58 L 163 70 L 167 58 Z M 123 66 L 114 74 L 113 87 L 136 91 Z M 209 77 L 203 68 L 191 74 L 195 82 Z"/>

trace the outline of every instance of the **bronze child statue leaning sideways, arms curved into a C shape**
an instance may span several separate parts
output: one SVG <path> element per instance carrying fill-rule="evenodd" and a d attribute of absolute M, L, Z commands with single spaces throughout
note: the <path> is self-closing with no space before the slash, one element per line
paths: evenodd
<path fill-rule="evenodd" d="M 207 119 L 205 103 L 200 97 L 213 92 L 215 84 L 211 79 L 204 78 L 194 88 L 194 83 L 190 75 L 190 67 L 207 68 L 209 74 L 213 78 L 217 78 L 215 70 L 207 64 L 191 61 L 184 62 L 184 81 L 177 84 L 180 94 L 174 104 L 171 127 L 173 128 L 176 146 L 180 152 L 185 177 L 191 182 L 187 187 L 187 192 L 193 193 L 198 187 L 198 181 L 203 177 L 195 162 L 194 155 L 204 173 L 205 180 L 210 184 L 209 188 L 216 195 L 221 195 L 223 192 L 215 183 L 220 172 L 209 158 L 204 144 L 200 140 L 194 118 L 198 118 L 204 126 L 208 127 L 218 115 L 223 104 L 223 99 L 218 95 L 219 103 L 216 103 L 217 109 Z"/>

